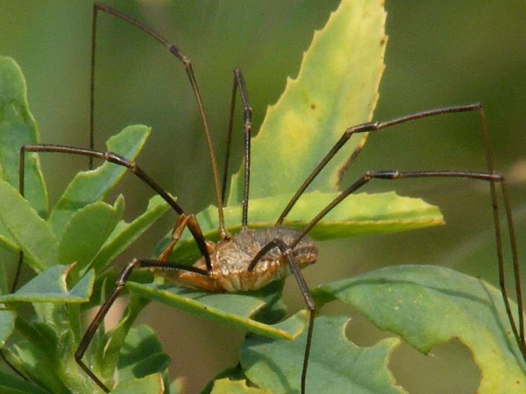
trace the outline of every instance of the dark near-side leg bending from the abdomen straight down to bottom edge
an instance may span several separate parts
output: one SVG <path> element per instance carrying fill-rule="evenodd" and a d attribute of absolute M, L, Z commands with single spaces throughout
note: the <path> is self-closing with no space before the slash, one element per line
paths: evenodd
<path fill-rule="evenodd" d="M 296 244 L 294 246 L 296 246 Z M 281 251 L 281 254 L 287 257 L 290 271 L 292 271 L 292 274 L 296 278 L 296 282 L 298 282 L 298 286 L 305 300 L 305 304 L 309 309 L 309 328 L 307 332 L 307 344 L 305 345 L 305 355 L 303 359 L 303 368 L 301 371 L 301 394 L 305 394 L 305 382 L 307 380 L 307 366 L 309 364 L 310 345 L 312 343 L 312 330 L 314 328 L 316 304 L 312 299 L 312 295 L 310 294 L 309 287 L 305 282 L 305 278 L 301 274 L 301 271 L 298 269 L 298 266 L 296 265 L 296 262 L 294 261 L 294 258 L 291 255 L 294 246 L 287 246 L 287 244 L 279 238 L 270 241 L 267 245 L 262 247 L 258 254 L 254 257 L 254 259 L 252 259 L 248 267 L 248 271 L 252 271 L 256 264 L 260 261 L 261 257 L 263 257 L 272 248 L 278 247 Z"/>

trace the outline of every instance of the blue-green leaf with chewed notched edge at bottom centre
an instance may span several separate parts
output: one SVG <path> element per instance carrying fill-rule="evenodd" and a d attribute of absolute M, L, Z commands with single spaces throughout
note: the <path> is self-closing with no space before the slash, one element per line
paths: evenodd
<path fill-rule="evenodd" d="M 307 392 L 402 394 L 387 368 L 397 338 L 358 348 L 345 336 L 349 319 L 317 317 L 307 370 Z M 307 330 L 306 330 L 307 331 Z M 241 345 L 240 361 L 251 382 L 274 394 L 300 391 L 307 333 L 294 341 L 252 337 Z"/>

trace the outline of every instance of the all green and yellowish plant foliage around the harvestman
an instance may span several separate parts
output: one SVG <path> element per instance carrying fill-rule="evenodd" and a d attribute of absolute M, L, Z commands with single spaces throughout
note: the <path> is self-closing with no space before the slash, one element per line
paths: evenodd
<path fill-rule="evenodd" d="M 252 140 L 251 227 L 274 225 L 292 194 L 346 128 L 371 119 L 387 39 L 382 3 L 342 0 L 326 27 L 314 34 L 297 79 L 289 79 L 279 101 L 268 108 Z M 107 149 L 135 160 L 149 133 L 145 126 L 127 127 L 107 141 Z M 285 225 L 302 229 L 338 195 L 346 164 L 365 138 L 355 136 L 346 144 L 297 202 Z M 38 143 L 25 81 L 12 59 L 0 58 L 0 246 L 23 251 L 25 263 L 38 274 L 14 294 L 5 294 L 6 285 L 0 286 L 0 348 L 39 387 L 0 372 L 0 390 L 93 393 L 98 388 L 74 359 L 85 330 L 82 312 L 114 291 L 110 278 L 116 276 L 115 270 L 106 268 L 169 206 L 155 196 L 143 214 L 123 221 L 124 197 L 119 195 L 113 204 L 104 200 L 126 168 L 104 162 L 93 171 L 78 173 L 47 216 L 47 192 L 36 154 L 26 158 L 26 198 L 17 191 L 18 151 L 25 143 Z M 232 177 L 225 209 L 227 230 L 233 234 L 240 230 L 242 178 L 241 167 Z M 209 241 L 218 239 L 217 216 L 215 206 L 197 214 Z M 358 193 L 332 210 L 309 235 L 321 241 L 440 224 L 438 208 L 420 199 Z M 169 235 L 157 253 L 168 240 Z M 192 264 L 198 256 L 186 231 L 171 258 Z M 166 277 L 147 284 L 127 282 L 129 302 L 123 317 L 108 332 L 101 324 L 83 358 L 112 393 L 183 390 L 180 382 L 169 383 L 170 357 L 155 333 L 145 326 L 131 328 L 150 300 L 250 332 L 240 350 L 240 364 L 217 375 L 203 393 L 299 391 L 308 312 L 287 316 L 281 299 L 283 281 L 257 292 L 213 294 L 179 287 Z M 2 283 L 4 279 L 0 272 Z M 319 307 L 335 300 L 347 303 L 423 352 L 460 338 L 481 370 L 480 393 L 524 391 L 524 365 L 500 293 L 478 279 L 438 267 L 393 267 L 328 283 L 312 293 Z M 32 303 L 34 319 L 15 312 L 22 302 Z M 346 338 L 347 325 L 346 317 L 316 318 L 307 391 L 404 393 L 388 369 L 400 340 L 388 338 L 359 348 Z M 23 339 L 5 346 L 14 331 Z"/>

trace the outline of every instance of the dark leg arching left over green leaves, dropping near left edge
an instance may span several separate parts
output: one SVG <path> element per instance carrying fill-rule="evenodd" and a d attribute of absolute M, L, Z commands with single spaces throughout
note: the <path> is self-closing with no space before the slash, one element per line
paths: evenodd
<path fill-rule="evenodd" d="M 137 178 L 145 182 L 151 189 L 153 189 L 157 194 L 159 194 L 170 206 L 173 208 L 179 215 L 185 215 L 183 209 L 175 202 L 175 200 L 168 194 L 163 188 L 161 188 L 153 179 L 151 179 L 148 174 L 146 174 L 140 167 L 133 161 L 125 159 L 124 157 L 113 153 L 113 152 L 102 152 L 93 149 L 85 148 L 74 148 L 74 147 L 65 147 L 62 145 L 53 145 L 53 144 L 37 144 L 37 145 L 24 145 L 20 150 L 20 163 L 19 163 L 19 192 L 24 195 L 24 164 L 25 164 L 25 152 L 59 152 L 59 153 L 69 153 L 69 154 L 80 154 L 89 157 L 95 157 L 99 159 L 106 160 L 110 163 L 115 163 L 118 165 L 123 165 L 133 172 Z M 186 215 L 185 215 L 186 216 Z M 210 262 L 210 254 L 208 253 L 208 248 L 206 246 L 205 237 L 201 232 L 199 224 L 197 221 L 190 221 L 188 229 L 191 234 L 194 236 L 196 243 L 199 247 L 201 255 L 205 257 L 205 262 L 208 270 L 212 268 Z M 12 286 L 12 292 L 16 289 L 16 283 L 18 281 L 18 273 L 23 261 L 23 254 L 20 252 L 18 259 L 17 275 L 15 277 L 15 282 Z"/>

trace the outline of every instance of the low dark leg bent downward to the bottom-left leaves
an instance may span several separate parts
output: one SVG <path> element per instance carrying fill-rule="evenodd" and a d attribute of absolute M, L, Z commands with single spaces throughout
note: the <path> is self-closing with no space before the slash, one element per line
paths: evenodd
<path fill-rule="evenodd" d="M 93 373 L 89 367 L 84 364 L 82 361 L 82 357 L 84 356 L 87 347 L 91 343 L 93 336 L 95 335 L 95 331 L 97 331 L 97 328 L 100 326 L 100 323 L 104 320 L 104 316 L 108 313 L 109 308 L 113 305 L 117 297 L 119 296 L 120 292 L 124 288 L 126 281 L 128 280 L 131 272 L 135 268 L 157 268 L 157 269 L 173 269 L 176 271 L 187 271 L 187 272 L 193 272 L 196 274 L 207 276 L 207 271 L 191 266 L 185 266 L 180 264 L 171 264 L 166 263 L 165 261 L 159 261 L 159 260 L 138 260 L 134 258 L 119 274 L 119 277 L 117 279 L 117 287 L 113 291 L 113 293 L 106 299 L 106 302 L 100 307 L 97 314 L 95 315 L 92 323 L 89 325 L 88 329 L 86 330 L 86 333 L 80 340 L 80 343 L 78 345 L 77 350 L 75 351 L 75 360 L 77 361 L 80 368 L 82 368 L 86 374 L 90 378 L 92 378 L 97 385 L 102 388 L 105 392 L 109 392 L 109 389 L 104 385 L 102 381 Z"/>

